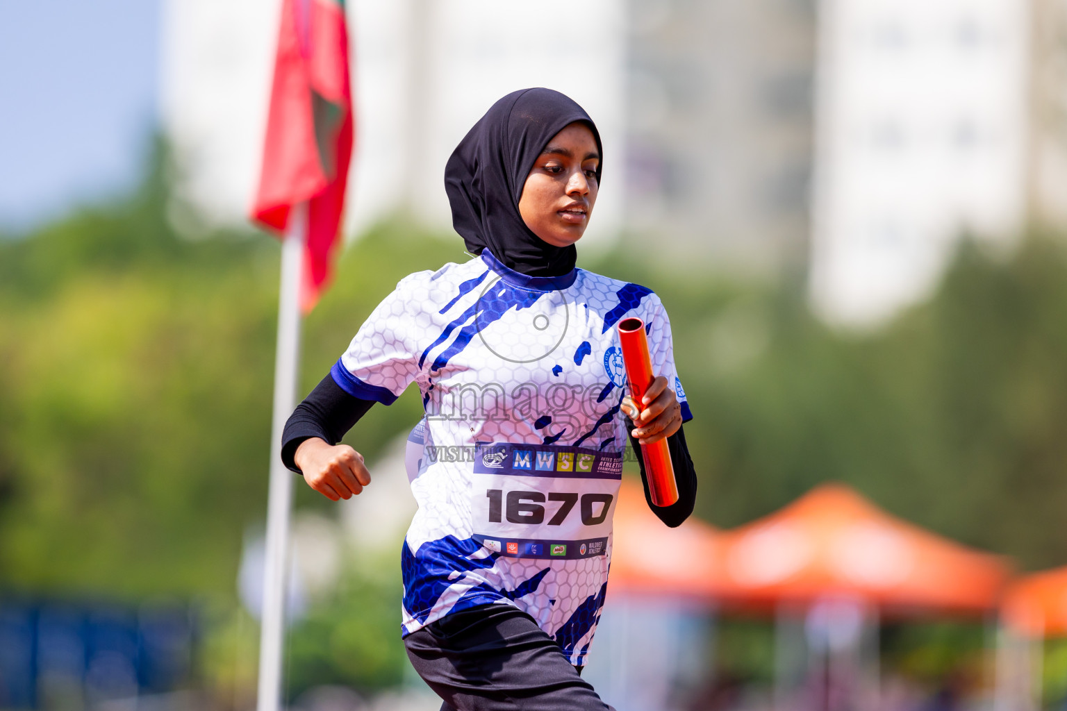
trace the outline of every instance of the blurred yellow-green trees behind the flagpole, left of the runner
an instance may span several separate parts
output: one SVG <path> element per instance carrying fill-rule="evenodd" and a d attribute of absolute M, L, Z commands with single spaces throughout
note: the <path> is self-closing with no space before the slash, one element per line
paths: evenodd
<path fill-rule="evenodd" d="M 176 235 L 155 164 L 127 203 L 0 242 L 5 587 L 233 599 L 243 531 L 265 517 L 280 248 Z M 306 321 L 304 391 L 407 271 L 463 258 L 411 231 L 345 255 Z M 352 440 L 373 456 L 419 411 L 408 393 Z M 302 504 L 329 504 L 306 488 Z"/>

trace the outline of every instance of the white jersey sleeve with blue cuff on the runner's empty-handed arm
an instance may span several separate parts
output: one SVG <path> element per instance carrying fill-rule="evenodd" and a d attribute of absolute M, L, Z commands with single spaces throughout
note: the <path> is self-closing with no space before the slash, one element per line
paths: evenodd
<path fill-rule="evenodd" d="M 350 395 L 392 405 L 418 375 L 414 286 L 412 274 L 379 304 L 360 327 L 348 350 L 330 370 L 334 382 Z"/>

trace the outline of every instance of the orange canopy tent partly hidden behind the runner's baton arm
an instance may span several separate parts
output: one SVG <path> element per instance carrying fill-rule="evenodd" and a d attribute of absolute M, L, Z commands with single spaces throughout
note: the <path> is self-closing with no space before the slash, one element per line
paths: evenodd
<path fill-rule="evenodd" d="M 622 480 L 612 529 L 611 591 L 705 599 L 723 592 L 719 532 L 695 517 L 668 528 L 639 482 Z"/>

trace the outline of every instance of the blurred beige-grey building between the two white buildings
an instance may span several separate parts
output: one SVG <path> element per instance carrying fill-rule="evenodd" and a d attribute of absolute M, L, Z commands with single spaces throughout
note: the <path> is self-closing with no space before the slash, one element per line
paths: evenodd
<path fill-rule="evenodd" d="M 627 16 L 626 229 L 692 269 L 801 269 L 815 0 L 628 0 Z"/>

